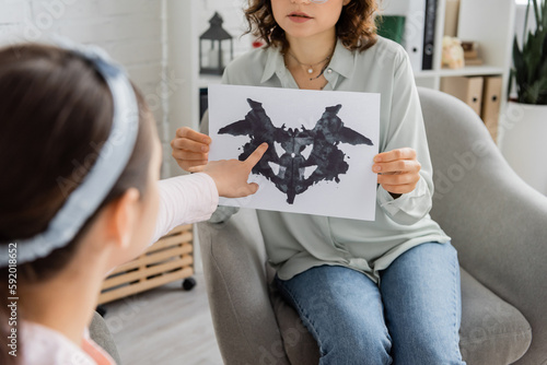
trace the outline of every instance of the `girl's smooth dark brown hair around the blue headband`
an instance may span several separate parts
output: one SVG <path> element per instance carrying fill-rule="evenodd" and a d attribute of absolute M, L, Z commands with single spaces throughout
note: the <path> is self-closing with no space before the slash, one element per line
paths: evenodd
<path fill-rule="evenodd" d="M 69 245 L 46 258 L 18 266 L 20 289 L 24 283 L 45 281 L 62 270 L 106 204 L 130 187 L 137 188 L 141 197 L 144 195 L 146 166 L 152 152 L 152 120 L 142 96 L 137 90 L 136 93 L 139 133 L 126 169 Z M 0 49 L 0 243 L 28 238 L 47 228 L 96 161 L 109 136 L 113 110 L 104 79 L 89 61 L 73 52 L 37 44 Z M 13 295 L 8 295 L 8 270 L 2 269 L 0 335 L 3 339 L 10 330 L 4 303 L 9 296 Z M 24 313 L 20 310 L 19 323 L 21 316 Z M 18 353 L 20 348 L 19 340 Z M 15 364 L 18 357 L 8 352 L 9 348 L 2 345 L 0 363 Z"/>

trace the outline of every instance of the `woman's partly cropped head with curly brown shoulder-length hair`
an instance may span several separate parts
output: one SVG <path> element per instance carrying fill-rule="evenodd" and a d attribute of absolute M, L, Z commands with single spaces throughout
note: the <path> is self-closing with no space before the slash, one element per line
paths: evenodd
<path fill-rule="evenodd" d="M 249 32 L 266 45 L 289 48 L 289 38 L 333 33 L 351 50 L 375 43 L 376 0 L 249 0 Z"/>

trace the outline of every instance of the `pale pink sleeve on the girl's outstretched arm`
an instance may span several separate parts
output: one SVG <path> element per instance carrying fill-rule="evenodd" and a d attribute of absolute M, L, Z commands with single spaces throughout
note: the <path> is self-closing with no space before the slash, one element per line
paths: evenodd
<path fill-rule="evenodd" d="M 207 174 L 177 176 L 159 184 L 160 212 L 150 245 L 177 225 L 207 221 L 217 210 L 219 192 Z"/>

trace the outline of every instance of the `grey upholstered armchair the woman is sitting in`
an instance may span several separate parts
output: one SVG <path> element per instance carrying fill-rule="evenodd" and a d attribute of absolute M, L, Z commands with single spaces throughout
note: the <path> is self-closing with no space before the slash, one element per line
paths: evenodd
<path fill-rule="evenodd" d="M 431 215 L 459 252 L 464 360 L 547 364 L 547 198 L 509 167 L 469 107 L 419 93 L 435 174 Z M 269 284 L 255 211 L 198 232 L 224 362 L 317 364 L 315 340 Z"/>

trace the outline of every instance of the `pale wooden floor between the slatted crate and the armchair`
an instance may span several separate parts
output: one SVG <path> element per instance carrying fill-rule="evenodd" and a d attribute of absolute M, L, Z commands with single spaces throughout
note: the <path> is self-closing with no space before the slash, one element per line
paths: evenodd
<path fill-rule="evenodd" d="M 106 304 L 105 320 L 124 365 L 221 365 L 203 275 Z"/>

